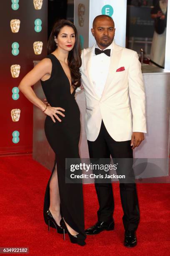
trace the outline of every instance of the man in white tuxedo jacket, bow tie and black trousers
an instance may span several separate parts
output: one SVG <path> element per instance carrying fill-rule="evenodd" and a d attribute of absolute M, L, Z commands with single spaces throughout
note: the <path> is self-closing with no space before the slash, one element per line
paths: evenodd
<path fill-rule="evenodd" d="M 86 97 L 85 131 L 90 159 L 133 158 L 133 149 L 144 140 L 145 92 L 141 65 L 135 51 L 115 44 L 111 17 L 99 15 L 93 21 L 96 44 L 82 51 L 82 85 Z M 129 95 L 130 101 L 129 101 Z M 131 108 L 133 113 L 133 128 Z M 127 170 L 128 171 L 128 170 Z M 95 183 L 98 221 L 87 235 L 113 230 L 114 200 L 111 183 Z M 137 244 L 135 231 L 140 214 L 136 184 L 120 183 L 124 245 Z"/>

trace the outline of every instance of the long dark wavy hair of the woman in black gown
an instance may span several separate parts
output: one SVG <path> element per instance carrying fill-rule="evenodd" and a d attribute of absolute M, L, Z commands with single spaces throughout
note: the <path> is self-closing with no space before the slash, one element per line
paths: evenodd
<path fill-rule="evenodd" d="M 79 68 L 82 65 L 81 49 L 80 49 L 80 41 L 78 38 L 77 29 L 72 22 L 70 22 L 69 20 L 64 20 L 64 19 L 57 20 L 57 22 L 54 24 L 54 26 L 52 28 L 52 32 L 48 39 L 47 52 L 48 52 L 48 54 L 50 54 L 53 51 L 55 51 L 57 46 L 54 41 L 54 37 L 56 36 L 56 38 L 57 38 L 58 34 L 60 33 L 61 28 L 65 27 L 65 26 L 69 26 L 69 27 L 73 28 L 73 30 L 75 32 L 75 45 L 74 45 L 73 49 L 68 54 L 68 66 L 70 68 L 72 85 L 74 85 L 75 87 L 79 87 L 81 85 L 81 74 L 80 74 L 80 70 L 79 70 Z"/>

